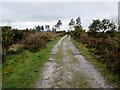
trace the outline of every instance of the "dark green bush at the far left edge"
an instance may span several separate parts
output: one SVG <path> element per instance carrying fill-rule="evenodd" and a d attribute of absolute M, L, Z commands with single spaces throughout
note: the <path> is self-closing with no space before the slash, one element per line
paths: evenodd
<path fill-rule="evenodd" d="M 7 52 L 10 45 L 25 38 L 24 32 L 12 29 L 10 26 L 2 27 L 2 49 Z"/>

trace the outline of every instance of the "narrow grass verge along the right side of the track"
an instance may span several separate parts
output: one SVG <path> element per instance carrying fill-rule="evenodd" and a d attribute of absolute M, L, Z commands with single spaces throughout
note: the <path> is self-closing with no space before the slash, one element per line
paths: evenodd
<path fill-rule="evenodd" d="M 115 88 L 120 88 L 119 81 L 117 79 L 117 76 L 111 74 L 105 67 L 105 64 L 102 64 L 98 62 L 94 56 L 92 56 L 91 52 L 88 48 L 85 47 L 84 44 L 81 42 L 75 41 L 73 38 L 71 38 L 71 41 L 74 43 L 74 45 L 79 49 L 81 54 L 84 56 L 86 60 L 89 60 L 101 73 L 103 76 L 106 77 L 108 83 L 112 85 Z"/>

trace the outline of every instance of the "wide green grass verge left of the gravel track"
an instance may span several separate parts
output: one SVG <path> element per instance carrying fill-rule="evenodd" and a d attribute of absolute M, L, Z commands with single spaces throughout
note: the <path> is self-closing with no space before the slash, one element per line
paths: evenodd
<path fill-rule="evenodd" d="M 22 51 L 6 55 L 3 64 L 3 88 L 34 88 L 44 63 L 49 59 L 52 47 L 60 39 L 51 41 L 39 52 Z"/>

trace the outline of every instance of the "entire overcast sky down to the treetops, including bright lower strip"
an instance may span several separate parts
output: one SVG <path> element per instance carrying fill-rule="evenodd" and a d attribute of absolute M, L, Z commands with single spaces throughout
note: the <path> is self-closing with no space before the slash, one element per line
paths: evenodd
<path fill-rule="evenodd" d="M 19 0 L 20 1 L 20 0 Z M 73 2 L 74 1 L 74 2 Z M 92 0 L 91 2 L 16 2 L 15 0 L 5 0 L 0 3 L 0 25 L 11 25 L 13 28 L 33 28 L 36 25 L 50 25 L 51 27 L 62 20 L 61 29 L 67 29 L 71 18 L 81 17 L 81 23 L 87 28 L 93 19 L 103 19 L 117 17 L 118 0 L 101 2 Z"/>

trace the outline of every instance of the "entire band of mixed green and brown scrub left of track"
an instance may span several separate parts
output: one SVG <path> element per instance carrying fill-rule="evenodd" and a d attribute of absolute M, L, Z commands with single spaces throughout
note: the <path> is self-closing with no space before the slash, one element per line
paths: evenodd
<path fill-rule="evenodd" d="M 47 43 L 62 36 L 65 32 L 33 32 L 33 29 L 18 30 L 10 26 L 2 27 L 2 49 L 3 53 L 21 51 L 19 49 L 30 49 L 38 51 L 45 48 Z M 22 46 L 22 47 L 21 47 Z"/>

